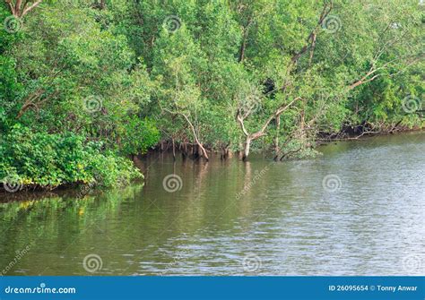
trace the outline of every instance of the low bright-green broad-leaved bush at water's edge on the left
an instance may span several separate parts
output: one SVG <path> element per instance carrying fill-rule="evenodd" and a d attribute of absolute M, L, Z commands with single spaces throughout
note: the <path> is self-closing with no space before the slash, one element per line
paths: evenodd
<path fill-rule="evenodd" d="M 33 133 L 15 124 L 0 143 L 1 178 L 53 188 L 61 184 L 120 186 L 141 174 L 131 162 L 101 142 L 85 142 L 74 133 Z"/>

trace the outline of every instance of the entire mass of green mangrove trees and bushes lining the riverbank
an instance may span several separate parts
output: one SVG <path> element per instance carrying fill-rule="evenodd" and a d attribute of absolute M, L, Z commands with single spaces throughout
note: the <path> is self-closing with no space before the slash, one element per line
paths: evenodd
<path fill-rule="evenodd" d="M 418 0 L 2 0 L 0 178 L 126 184 L 131 156 L 315 154 L 421 127 Z M 12 178 L 12 179 L 11 179 Z"/>

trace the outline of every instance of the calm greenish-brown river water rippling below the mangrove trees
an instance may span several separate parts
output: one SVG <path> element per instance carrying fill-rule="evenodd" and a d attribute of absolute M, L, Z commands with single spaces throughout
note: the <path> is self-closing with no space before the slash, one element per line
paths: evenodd
<path fill-rule="evenodd" d="M 425 134 L 317 159 L 152 155 L 145 184 L 1 194 L 4 275 L 425 275 Z M 13 201 L 14 197 L 23 201 Z"/>

